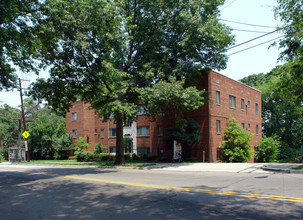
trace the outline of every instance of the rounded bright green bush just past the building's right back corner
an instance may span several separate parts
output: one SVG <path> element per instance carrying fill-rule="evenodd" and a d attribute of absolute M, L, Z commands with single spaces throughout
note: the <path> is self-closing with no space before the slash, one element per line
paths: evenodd
<path fill-rule="evenodd" d="M 258 162 L 273 162 L 279 155 L 280 138 L 277 136 L 262 136 L 262 141 L 256 146 L 255 158 Z"/>

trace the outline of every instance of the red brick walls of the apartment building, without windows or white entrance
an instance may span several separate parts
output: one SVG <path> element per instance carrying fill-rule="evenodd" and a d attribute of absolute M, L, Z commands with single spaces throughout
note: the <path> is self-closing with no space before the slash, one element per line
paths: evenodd
<path fill-rule="evenodd" d="M 228 115 L 235 117 L 238 122 L 245 123 L 248 130 L 250 124 L 250 132 L 254 134 L 252 145 L 262 137 L 262 118 L 261 118 L 261 93 L 258 90 L 250 88 L 237 81 L 229 79 L 219 73 L 204 72 L 203 78 L 199 79 L 200 88 L 208 91 L 209 102 L 195 111 L 185 113 L 187 118 L 192 118 L 201 126 L 201 138 L 192 148 L 192 156 L 199 161 L 203 160 L 214 162 L 217 160 L 217 148 L 221 146 L 223 141 L 224 130 L 227 128 Z M 216 104 L 216 91 L 220 92 L 220 105 Z M 229 96 L 236 97 L 236 108 L 229 107 Z M 244 111 L 241 110 L 241 99 L 244 99 Z M 250 101 L 250 107 L 248 107 Z M 258 114 L 255 111 L 255 104 L 258 104 Z M 87 110 L 89 104 L 77 101 L 73 103 L 73 107 L 66 114 L 67 132 L 77 129 L 78 137 L 89 137 L 89 150 L 93 151 L 96 143 L 101 142 L 102 145 L 116 146 L 116 138 L 109 137 L 109 129 L 116 128 L 114 121 L 102 122 L 99 116 L 95 115 L 94 110 Z M 72 121 L 72 113 L 77 112 L 77 120 Z M 221 121 L 221 134 L 216 132 L 216 121 Z M 158 154 L 158 148 L 164 149 L 164 156 L 171 157 L 173 154 L 172 146 L 168 146 L 165 140 L 167 129 L 174 127 L 173 120 L 169 118 L 157 118 L 151 122 L 145 115 L 137 116 L 138 126 L 149 126 L 149 136 L 137 137 L 137 148 L 149 147 L 152 155 Z M 158 136 L 157 126 L 163 125 L 163 136 Z M 256 125 L 259 125 L 259 135 L 256 135 Z M 95 132 L 95 129 L 97 132 Z M 104 138 L 101 138 L 101 129 L 104 129 Z"/>

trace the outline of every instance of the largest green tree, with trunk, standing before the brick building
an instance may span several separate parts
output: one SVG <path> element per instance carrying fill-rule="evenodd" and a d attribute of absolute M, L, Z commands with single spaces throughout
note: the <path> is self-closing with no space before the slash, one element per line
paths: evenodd
<path fill-rule="evenodd" d="M 51 64 L 36 96 L 66 110 L 80 98 L 117 124 L 116 163 L 123 160 L 123 121 L 131 120 L 141 88 L 169 76 L 194 79 L 226 66 L 233 42 L 218 20 L 223 0 L 46 0 L 38 38 Z"/>

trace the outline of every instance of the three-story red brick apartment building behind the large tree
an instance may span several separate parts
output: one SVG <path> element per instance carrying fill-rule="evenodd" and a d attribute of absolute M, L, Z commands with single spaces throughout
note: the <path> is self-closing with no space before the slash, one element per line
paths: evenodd
<path fill-rule="evenodd" d="M 220 160 L 228 115 L 254 134 L 251 144 L 256 145 L 262 138 L 261 92 L 213 71 L 202 76 L 200 88 L 208 91 L 209 101 L 199 109 L 185 113 L 186 118 L 201 126 L 200 141 L 191 149 L 191 156 L 198 161 Z M 72 104 L 66 113 L 67 132 L 75 139 L 86 137 L 90 151 L 101 142 L 108 147 L 108 152 L 115 153 L 116 125 L 113 120 L 102 122 L 94 110 L 87 110 L 88 107 L 89 104 L 83 101 Z M 169 127 L 169 120 L 163 117 L 151 122 L 144 112 L 138 112 L 136 121 L 125 126 L 123 131 L 124 136 L 132 139 L 131 153 L 172 157 L 174 147 L 167 146 L 165 139 Z"/>

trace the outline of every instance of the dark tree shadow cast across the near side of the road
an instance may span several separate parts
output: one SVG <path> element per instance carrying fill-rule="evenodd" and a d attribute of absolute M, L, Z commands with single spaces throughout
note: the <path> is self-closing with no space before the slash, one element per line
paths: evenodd
<path fill-rule="evenodd" d="M 87 172 L 117 171 L 75 168 L 60 175 Z M 1 219 L 300 219 L 302 204 L 0 172 Z"/>

